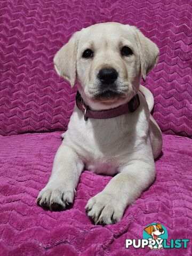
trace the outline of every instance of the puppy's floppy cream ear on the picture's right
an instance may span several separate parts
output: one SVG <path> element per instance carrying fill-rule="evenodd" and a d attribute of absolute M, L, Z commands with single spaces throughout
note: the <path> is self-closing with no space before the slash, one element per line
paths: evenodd
<path fill-rule="evenodd" d="M 158 61 L 159 49 L 157 45 L 144 36 L 138 28 L 134 27 L 134 31 L 140 54 L 141 75 L 145 81 L 146 75 L 155 67 Z"/>

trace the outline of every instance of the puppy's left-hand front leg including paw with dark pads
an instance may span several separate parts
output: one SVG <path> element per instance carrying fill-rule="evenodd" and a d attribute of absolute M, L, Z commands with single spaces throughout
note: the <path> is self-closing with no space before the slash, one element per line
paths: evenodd
<path fill-rule="evenodd" d="M 65 210 L 73 203 L 83 163 L 75 151 L 62 142 L 53 162 L 49 182 L 37 197 L 37 203 L 52 211 Z"/>

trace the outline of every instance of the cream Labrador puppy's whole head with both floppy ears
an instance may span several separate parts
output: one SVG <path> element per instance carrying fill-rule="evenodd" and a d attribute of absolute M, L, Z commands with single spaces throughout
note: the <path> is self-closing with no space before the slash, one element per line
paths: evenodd
<path fill-rule="evenodd" d="M 97 105 L 120 105 L 139 90 L 154 68 L 158 47 L 139 29 L 116 22 L 99 23 L 76 32 L 54 57 L 57 73 Z"/>

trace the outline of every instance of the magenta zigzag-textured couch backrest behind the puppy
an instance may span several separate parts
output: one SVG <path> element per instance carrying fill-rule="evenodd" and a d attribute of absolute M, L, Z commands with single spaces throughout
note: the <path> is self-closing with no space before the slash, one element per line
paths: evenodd
<path fill-rule="evenodd" d="M 139 27 L 160 49 L 145 85 L 162 131 L 191 135 L 190 0 L 91 2 L 1 2 L 0 134 L 66 130 L 75 89 L 55 73 L 53 56 L 75 31 L 117 21 Z"/>

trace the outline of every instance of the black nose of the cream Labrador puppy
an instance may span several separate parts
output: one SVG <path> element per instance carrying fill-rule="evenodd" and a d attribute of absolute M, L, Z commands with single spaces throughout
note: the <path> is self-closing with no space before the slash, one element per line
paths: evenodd
<path fill-rule="evenodd" d="M 98 74 L 98 78 L 102 84 L 113 84 L 117 76 L 118 73 L 114 68 L 102 68 Z"/>

